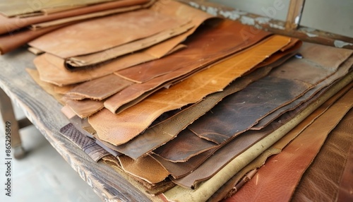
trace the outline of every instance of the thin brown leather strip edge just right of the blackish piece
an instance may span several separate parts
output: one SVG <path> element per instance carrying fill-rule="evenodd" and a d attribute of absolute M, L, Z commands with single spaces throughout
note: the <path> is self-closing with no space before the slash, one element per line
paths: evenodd
<path fill-rule="evenodd" d="M 315 87 L 311 88 L 308 92 L 306 92 L 303 96 L 299 97 L 297 100 L 294 102 L 290 103 L 289 105 L 285 105 L 281 107 L 280 109 L 277 109 L 275 112 L 268 114 L 266 117 L 258 121 L 258 124 L 255 126 L 251 127 L 252 130 L 259 130 L 262 129 L 264 126 L 270 123 L 270 121 L 273 121 L 277 117 L 279 117 L 281 114 L 294 109 L 295 107 L 301 105 L 303 102 L 306 100 L 311 99 L 313 96 L 317 96 L 316 94 L 318 91 L 321 91 L 321 89 L 325 88 L 326 86 L 330 85 L 331 83 L 335 82 L 337 79 L 342 78 L 342 76 L 345 76 L 348 72 L 349 69 L 352 67 L 353 64 L 353 57 L 350 57 L 345 61 L 342 66 L 340 66 L 340 69 L 337 70 L 337 72 L 333 73 L 330 75 L 328 78 L 325 80 L 321 81 Z M 318 93 L 320 94 L 320 93 Z"/>

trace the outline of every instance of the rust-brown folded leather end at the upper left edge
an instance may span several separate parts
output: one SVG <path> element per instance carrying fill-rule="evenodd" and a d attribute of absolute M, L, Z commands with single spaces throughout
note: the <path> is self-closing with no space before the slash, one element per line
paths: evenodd
<path fill-rule="evenodd" d="M 18 32 L 13 32 L 10 34 L 5 34 L 0 36 L 0 54 L 6 54 L 12 50 L 40 37 L 44 34 L 52 32 L 56 29 L 62 28 L 64 25 L 56 25 L 49 28 L 43 28 L 42 30 L 32 31 L 32 30 L 20 30 Z"/>

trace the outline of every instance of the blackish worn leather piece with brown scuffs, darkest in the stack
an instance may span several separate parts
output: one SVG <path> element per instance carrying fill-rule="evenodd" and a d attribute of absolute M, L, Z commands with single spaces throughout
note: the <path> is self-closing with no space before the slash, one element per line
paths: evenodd
<path fill-rule="evenodd" d="M 212 112 L 197 119 L 188 128 L 201 138 L 220 144 L 250 129 L 259 119 L 297 99 L 311 87 L 294 79 L 266 76 L 226 97 L 213 107 Z"/>

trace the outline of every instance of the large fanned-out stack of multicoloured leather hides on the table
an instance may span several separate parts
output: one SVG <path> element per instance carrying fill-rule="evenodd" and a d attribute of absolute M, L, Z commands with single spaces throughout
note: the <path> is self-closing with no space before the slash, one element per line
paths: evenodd
<path fill-rule="evenodd" d="M 153 200 L 347 195 L 349 182 L 340 179 L 352 164 L 352 124 L 345 132 L 352 50 L 273 35 L 177 1 L 139 5 L 28 43 L 42 52 L 28 72 L 71 121 L 64 136 Z M 338 181 L 332 189 L 313 185 L 326 180 L 316 170 L 337 149 L 331 133 L 341 132 L 342 161 L 330 158 Z"/>

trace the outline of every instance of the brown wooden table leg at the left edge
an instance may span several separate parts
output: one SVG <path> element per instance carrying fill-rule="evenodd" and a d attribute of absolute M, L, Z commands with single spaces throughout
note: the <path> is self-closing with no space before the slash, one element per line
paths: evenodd
<path fill-rule="evenodd" d="M 10 97 L 6 95 L 4 90 L 0 88 L 0 112 L 1 117 L 4 122 L 4 129 L 6 130 L 6 126 L 10 126 L 11 128 L 11 148 L 13 148 L 13 157 L 16 159 L 23 158 L 25 156 L 25 150 L 22 147 L 19 129 L 30 124 L 28 119 L 20 120 L 21 127 L 19 127 L 19 123 L 15 118 L 15 114 L 13 113 L 13 107 L 11 103 Z"/>

